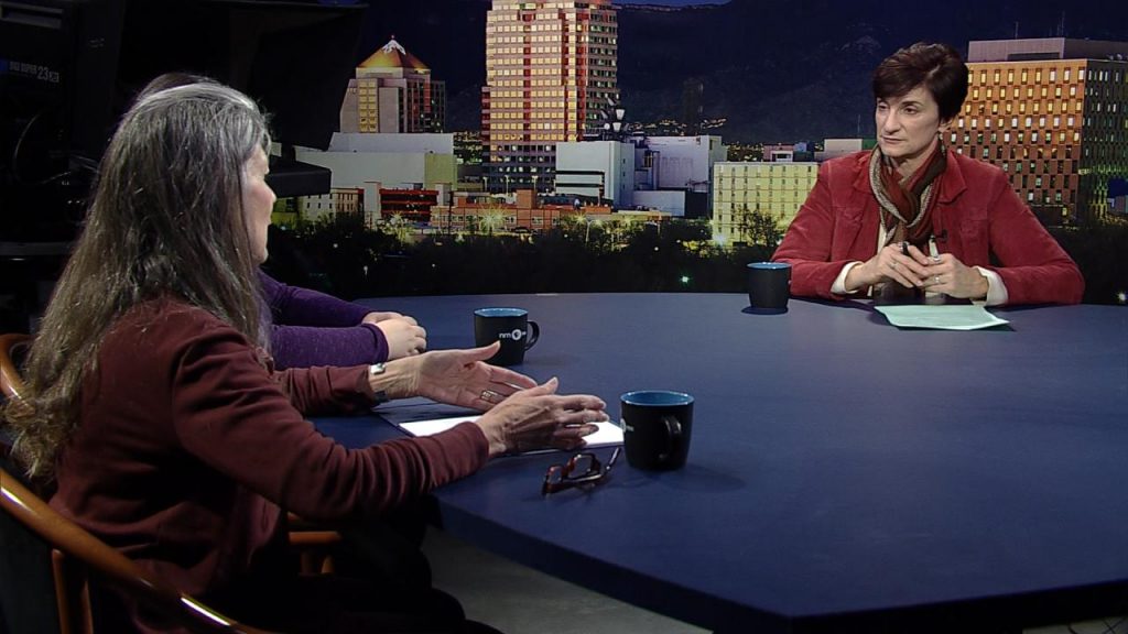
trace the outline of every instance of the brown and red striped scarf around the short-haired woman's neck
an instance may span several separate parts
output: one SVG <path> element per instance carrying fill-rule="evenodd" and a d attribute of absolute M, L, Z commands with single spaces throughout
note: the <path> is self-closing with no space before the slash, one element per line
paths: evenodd
<path fill-rule="evenodd" d="M 897 168 L 882 155 L 880 146 L 873 149 L 870 187 L 881 209 L 885 245 L 907 240 L 919 248 L 927 243 L 932 234 L 934 185 L 946 167 L 948 149 L 943 142 L 936 143 L 928 160 L 905 178 L 898 177 Z"/>

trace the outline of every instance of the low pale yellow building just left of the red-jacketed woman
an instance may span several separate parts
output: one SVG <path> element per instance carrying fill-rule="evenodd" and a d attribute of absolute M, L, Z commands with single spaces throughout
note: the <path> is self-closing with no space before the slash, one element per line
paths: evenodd
<path fill-rule="evenodd" d="M 714 239 L 729 246 L 760 244 L 760 214 L 774 220 L 782 235 L 818 175 L 817 162 L 717 162 L 713 166 Z"/>

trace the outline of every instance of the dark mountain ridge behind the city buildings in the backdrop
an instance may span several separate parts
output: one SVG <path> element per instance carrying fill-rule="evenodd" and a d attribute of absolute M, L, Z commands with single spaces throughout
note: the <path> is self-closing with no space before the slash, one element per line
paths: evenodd
<path fill-rule="evenodd" d="M 477 130 L 490 0 L 415 0 L 370 9 L 358 54 L 396 35 L 448 87 L 447 129 Z M 1067 11 L 1020 0 L 951 0 L 890 11 L 878 0 L 732 0 L 686 8 L 619 6 L 619 88 L 631 122 L 680 120 L 699 81 L 711 133 L 784 142 L 873 134 L 870 78 L 898 47 L 1066 36 L 1128 41 L 1128 3 Z M 367 51 L 367 53 L 365 53 Z"/>

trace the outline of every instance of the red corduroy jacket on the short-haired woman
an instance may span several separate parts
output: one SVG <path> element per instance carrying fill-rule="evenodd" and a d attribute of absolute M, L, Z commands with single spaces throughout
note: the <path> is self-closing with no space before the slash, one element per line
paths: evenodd
<path fill-rule="evenodd" d="M 870 152 L 828 160 L 773 259 L 792 265 L 796 297 L 844 299 L 830 285 L 851 262 L 878 248 L 879 208 Z M 940 177 L 932 222 L 941 253 L 995 271 L 1007 303 L 1077 303 L 1085 280 L 1076 263 L 1019 199 L 1003 170 L 955 152 Z"/>

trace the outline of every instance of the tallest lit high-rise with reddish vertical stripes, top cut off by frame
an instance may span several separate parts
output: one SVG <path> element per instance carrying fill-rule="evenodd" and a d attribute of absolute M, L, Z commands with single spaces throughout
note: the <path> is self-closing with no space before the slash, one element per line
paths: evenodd
<path fill-rule="evenodd" d="M 618 104 L 611 0 L 493 0 L 482 88 L 490 191 L 550 185 L 556 143 L 602 129 Z"/>

